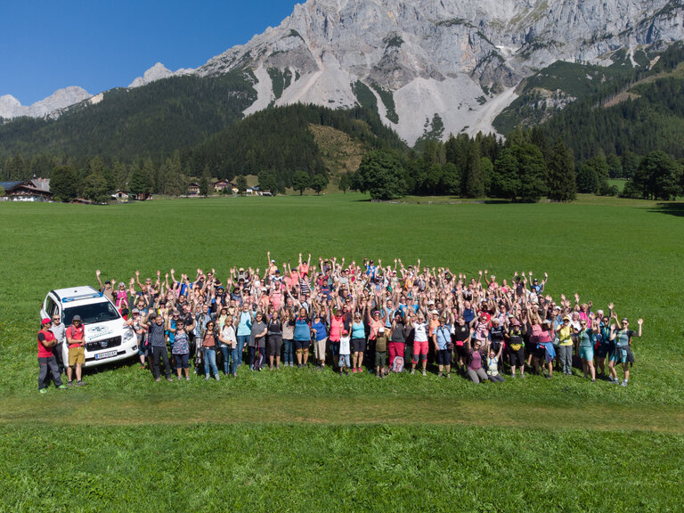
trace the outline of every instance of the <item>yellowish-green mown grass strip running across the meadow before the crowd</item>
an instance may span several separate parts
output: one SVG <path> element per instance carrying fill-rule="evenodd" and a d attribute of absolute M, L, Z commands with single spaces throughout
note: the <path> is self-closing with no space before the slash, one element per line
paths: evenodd
<path fill-rule="evenodd" d="M 0 400 L 0 423 L 3 424 L 141 426 L 204 421 L 216 424 L 408 424 L 681 434 L 684 433 L 684 408 L 444 401 L 423 396 L 303 398 L 277 394 L 221 395 L 214 400 L 200 401 L 168 395 L 150 395 L 142 400 L 121 395 L 41 397 L 38 401 L 6 397 Z"/>

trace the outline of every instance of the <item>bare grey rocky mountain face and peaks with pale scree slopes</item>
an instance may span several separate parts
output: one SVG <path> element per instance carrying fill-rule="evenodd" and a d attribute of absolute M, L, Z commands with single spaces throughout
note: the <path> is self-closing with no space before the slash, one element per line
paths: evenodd
<path fill-rule="evenodd" d="M 412 144 L 424 134 L 492 131 L 521 81 L 556 61 L 606 66 L 618 50 L 633 56 L 683 38 L 681 0 L 308 0 L 199 69 L 158 63 L 129 87 L 245 70 L 257 93 L 245 114 L 361 104 Z M 89 97 L 80 91 L 73 103 Z M 49 113 L 17 103 L 0 98 L 0 117 Z"/>

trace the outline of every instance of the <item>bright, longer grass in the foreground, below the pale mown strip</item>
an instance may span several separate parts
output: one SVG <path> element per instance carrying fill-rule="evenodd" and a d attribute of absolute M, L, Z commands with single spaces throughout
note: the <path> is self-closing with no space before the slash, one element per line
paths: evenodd
<path fill-rule="evenodd" d="M 0 438 L 3 504 L 12 511 L 546 513 L 681 506 L 681 436 L 285 424 L 0 428 Z M 27 452 L 59 454 L 60 464 L 28 459 Z"/>

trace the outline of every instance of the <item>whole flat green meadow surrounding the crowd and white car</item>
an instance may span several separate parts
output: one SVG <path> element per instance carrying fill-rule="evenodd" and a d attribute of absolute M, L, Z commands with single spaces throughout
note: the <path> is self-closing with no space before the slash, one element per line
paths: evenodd
<path fill-rule="evenodd" d="M 0 503 L 18 510 L 675 511 L 682 498 L 684 208 L 380 204 L 360 195 L 0 204 Z M 449 199 L 445 199 L 449 200 Z M 643 317 L 628 388 L 578 376 L 474 386 L 287 370 L 154 383 L 103 368 L 37 394 L 49 289 L 157 269 L 279 264 L 298 253 L 420 257 Z M 80 440 L 74 444 L 71 439 Z M 121 440 L 121 442 L 115 442 Z M 57 461 L 53 464 L 53 459 Z M 62 476 L 76 476 L 66 488 Z M 58 493 L 61 491 L 61 493 Z M 65 497 L 70 497 L 70 506 Z"/>

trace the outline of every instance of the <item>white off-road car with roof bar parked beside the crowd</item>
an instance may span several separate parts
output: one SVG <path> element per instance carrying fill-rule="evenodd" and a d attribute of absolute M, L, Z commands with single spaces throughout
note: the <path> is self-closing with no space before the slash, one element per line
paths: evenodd
<path fill-rule="evenodd" d="M 85 365 L 94 367 L 138 354 L 134 330 L 118 313 L 111 301 L 93 287 L 51 290 L 40 310 L 41 318 L 60 315 L 68 328 L 74 315 L 80 315 L 85 327 Z M 63 361 L 69 361 L 69 346 L 62 347 Z"/>

